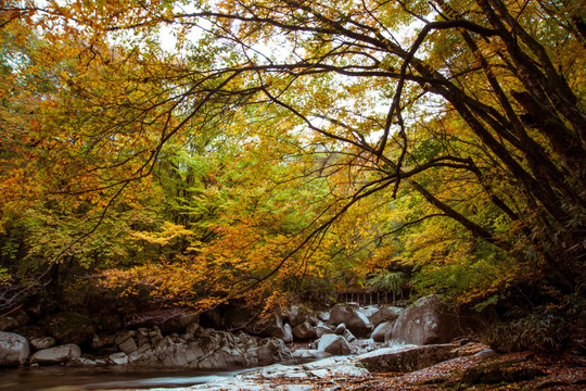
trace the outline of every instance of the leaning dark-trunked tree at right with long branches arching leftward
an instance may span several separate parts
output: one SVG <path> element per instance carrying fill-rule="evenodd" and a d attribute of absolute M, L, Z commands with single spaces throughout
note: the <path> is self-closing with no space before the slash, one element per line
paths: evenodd
<path fill-rule="evenodd" d="M 127 60 L 117 62 L 125 77 L 140 75 L 129 77 L 140 93 L 114 89 L 130 102 L 106 94 L 115 116 L 92 126 L 104 134 L 119 117 L 158 127 L 135 178 L 195 118 L 230 121 L 238 108 L 286 117 L 303 153 L 322 156 L 323 169 L 306 161 L 306 178 L 328 174 L 329 206 L 259 280 L 319 243 L 362 200 L 413 192 L 428 206 L 404 225 L 449 218 L 458 225 L 451 232 L 463 229 L 518 264 L 531 254 L 539 276 L 582 292 L 586 133 L 577 8 L 502 0 L 175 5 L 71 2 L 41 12 L 52 15 L 48 28 L 59 27 L 51 34 L 76 30 L 85 49 L 126 39 L 120 59 L 140 64 L 133 72 L 123 66 Z M 178 37 L 180 58 L 168 63 L 145 38 L 162 26 Z M 144 89 L 153 79 L 158 88 Z M 488 212 L 479 216 L 481 209 Z"/>

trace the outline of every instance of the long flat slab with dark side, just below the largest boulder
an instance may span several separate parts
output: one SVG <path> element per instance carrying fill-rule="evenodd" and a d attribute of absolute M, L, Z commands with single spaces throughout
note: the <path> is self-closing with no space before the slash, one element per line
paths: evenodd
<path fill-rule="evenodd" d="M 371 373 L 407 373 L 454 358 L 457 348 L 456 344 L 386 348 L 361 354 L 356 361 Z"/>

